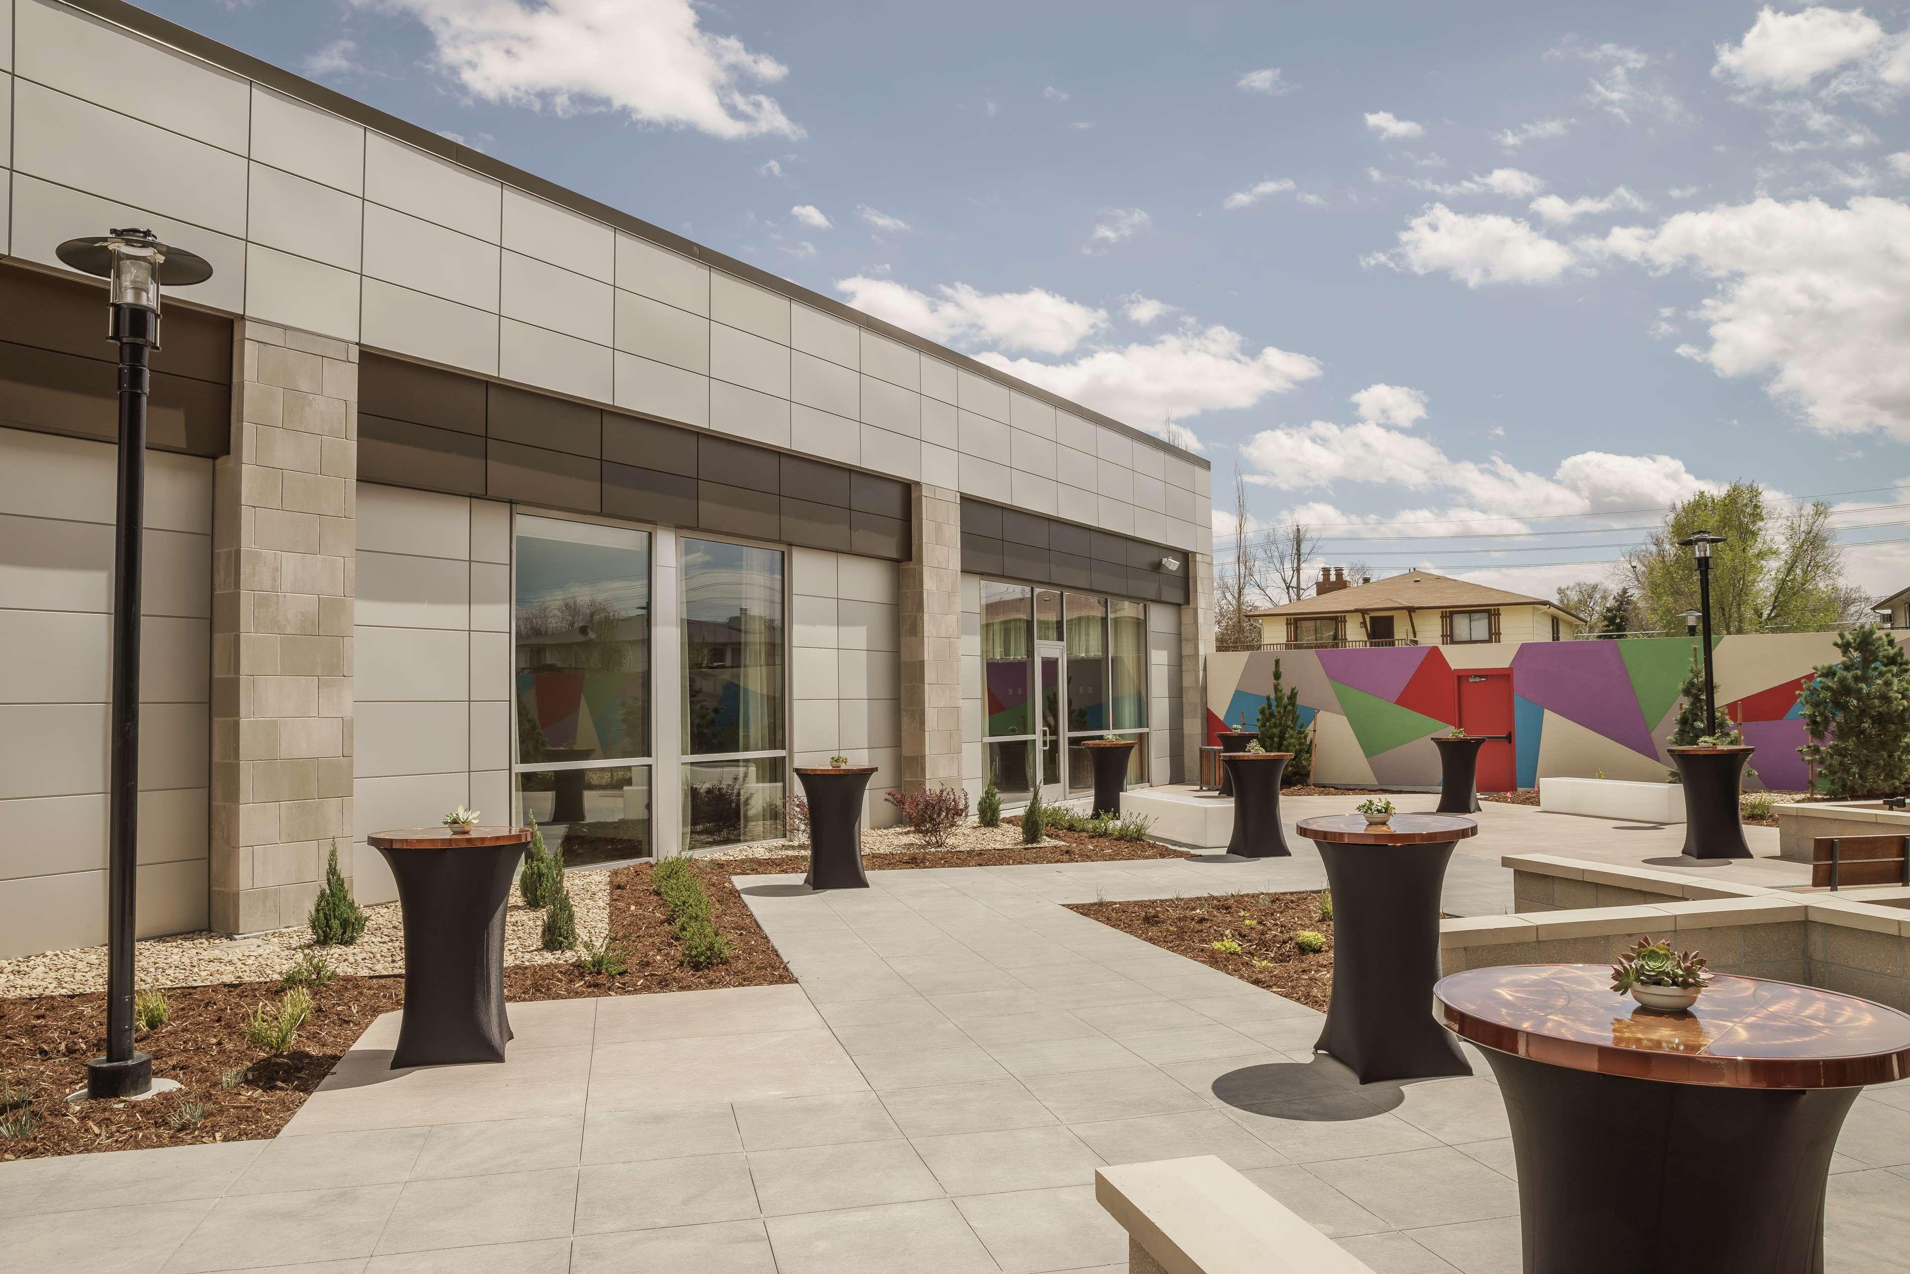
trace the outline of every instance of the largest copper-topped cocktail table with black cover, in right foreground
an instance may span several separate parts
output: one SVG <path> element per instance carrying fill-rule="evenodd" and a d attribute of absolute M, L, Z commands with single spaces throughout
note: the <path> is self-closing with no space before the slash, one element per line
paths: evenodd
<path fill-rule="evenodd" d="M 1509 965 L 1434 1001 L 1499 1079 L 1528 1274 L 1822 1272 L 1843 1117 L 1910 1075 L 1910 1016 L 1790 982 L 1719 974 L 1656 1012 L 1599 965 Z"/>

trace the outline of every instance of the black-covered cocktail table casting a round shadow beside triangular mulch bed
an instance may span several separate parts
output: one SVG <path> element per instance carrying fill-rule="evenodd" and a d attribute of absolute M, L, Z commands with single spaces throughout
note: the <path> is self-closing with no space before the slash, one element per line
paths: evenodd
<path fill-rule="evenodd" d="M 1314 1051 L 1345 1062 L 1360 1083 L 1471 1075 L 1432 1018 L 1432 984 L 1446 863 L 1478 823 L 1394 814 L 1369 827 L 1358 814 L 1333 814 L 1297 829 L 1320 846 L 1333 890 L 1333 997 Z"/>

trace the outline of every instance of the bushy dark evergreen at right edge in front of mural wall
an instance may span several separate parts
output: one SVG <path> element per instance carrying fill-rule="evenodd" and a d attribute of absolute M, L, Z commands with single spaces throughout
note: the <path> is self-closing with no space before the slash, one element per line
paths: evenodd
<path fill-rule="evenodd" d="M 1834 796 L 1897 796 L 1910 781 L 1910 655 L 1874 625 L 1839 632 L 1837 653 L 1797 693 L 1811 735 L 1797 751 Z"/>

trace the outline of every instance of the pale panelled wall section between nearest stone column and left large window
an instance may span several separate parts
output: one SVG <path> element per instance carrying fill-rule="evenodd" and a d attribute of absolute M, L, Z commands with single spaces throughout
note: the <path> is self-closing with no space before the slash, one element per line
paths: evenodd
<path fill-rule="evenodd" d="M 367 833 L 460 804 L 512 821 L 510 506 L 359 483 L 359 902 L 397 896 Z M 342 856 L 344 858 L 344 856 Z"/>

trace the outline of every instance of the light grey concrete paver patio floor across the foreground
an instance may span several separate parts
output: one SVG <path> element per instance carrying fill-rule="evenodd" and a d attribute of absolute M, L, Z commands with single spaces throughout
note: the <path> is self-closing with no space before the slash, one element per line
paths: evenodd
<path fill-rule="evenodd" d="M 1360 1087 L 1316 1012 L 1056 902 L 1308 871 L 743 877 L 798 986 L 514 1005 L 502 1066 L 390 1072 L 388 1014 L 269 1142 L 0 1165 L 0 1266 L 1123 1268 L 1094 1167 L 1217 1154 L 1381 1274 L 1517 1270 L 1484 1066 Z M 1836 1171 L 1830 1268 L 1910 1270 L 1910 1089 L 1858 1102 Z"/>

